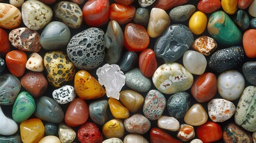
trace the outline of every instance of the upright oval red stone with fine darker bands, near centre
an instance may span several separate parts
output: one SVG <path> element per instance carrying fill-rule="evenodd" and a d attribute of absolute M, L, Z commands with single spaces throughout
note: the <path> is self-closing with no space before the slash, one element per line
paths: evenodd
<path fill-rule="evenodd" d="M 138 67 L 144 76 L 150 77 L 158 68 L 155 52 L 152 49 L 144 49 L 138 58 Z"/>

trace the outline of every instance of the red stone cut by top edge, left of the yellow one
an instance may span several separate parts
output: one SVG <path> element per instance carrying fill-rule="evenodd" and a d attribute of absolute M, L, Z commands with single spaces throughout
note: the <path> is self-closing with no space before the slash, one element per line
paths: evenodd
<path fill-rule="evenodd" d="M 198 10 L 206 14 L 217 11 L 220 8 L 220 0 L 200 0 L 198 2 Z"/>

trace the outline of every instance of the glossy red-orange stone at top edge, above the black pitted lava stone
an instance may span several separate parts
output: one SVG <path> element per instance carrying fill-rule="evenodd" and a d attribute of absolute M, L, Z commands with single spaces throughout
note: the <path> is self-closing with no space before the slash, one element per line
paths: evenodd
<path fill-rule="evenodd" d="M 85 23 L 91 27 L 100 27 L 109 22 L 109 0 L 89 0 L 82 12 Z"/>

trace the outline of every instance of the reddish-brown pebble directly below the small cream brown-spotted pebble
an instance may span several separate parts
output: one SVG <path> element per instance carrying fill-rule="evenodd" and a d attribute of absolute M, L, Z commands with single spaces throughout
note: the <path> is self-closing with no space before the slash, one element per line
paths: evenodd
<path fill-rule="evenodd" d="M 40 97 L 48 88 L 48 81 L 44 73 L 28 71 L 20 79 L 21 86 L 26 89 L 33 97 Z"/>

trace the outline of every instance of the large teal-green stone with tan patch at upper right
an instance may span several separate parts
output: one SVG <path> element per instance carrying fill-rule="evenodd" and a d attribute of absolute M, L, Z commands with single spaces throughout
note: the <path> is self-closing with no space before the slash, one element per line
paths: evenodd
<path fill-rule="evenodd" d="M 242 33 L 224 11 L 211 14 L 207 29 L 211 37 L 222 45 L 235 46 L 242 42 Z"/>

